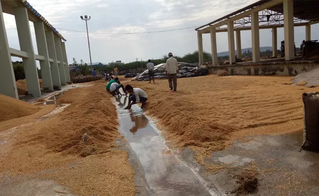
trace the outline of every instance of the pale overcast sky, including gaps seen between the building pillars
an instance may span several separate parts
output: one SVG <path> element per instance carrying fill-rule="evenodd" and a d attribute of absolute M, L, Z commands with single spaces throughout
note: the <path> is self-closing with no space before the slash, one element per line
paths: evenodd
<path fill-rule="evenodd" d="M 86 31 L 80 15 L 89 15 L 90 32 L 131 33 L 170 30 L 204 25 L 257 0 L 28 0 L 67 40 L 72 58 L 89 62 Z M 4 14 L 6 29 L 15 28 L 14 16 Z M 32 23 L 30 23 L 32 25 Z M 30 27 L 37 54 L 33 26 Z M 295 27 L 296 47 L 305 39 L 305 27 Z M 312 25 L 312 39 L 319 39 L 319 25 Z M 17 30 L 7 30 L 9 47 L 20 49 Z M 183 56 L 198 49 L 194 28 L 160 33 L 117 35 L 90 33 L 92 62 L 108 63 L 160 58 L 168 52 Z M 278 29 L 278 49 L 284 40 Z M 203 36 L 204 50 L 211 52 L 210 35 Z M 251 31 L 241 32 L 242 48 L 251 47 Z M 271 46 L 271 29 L 260 30 L 260 46 Z M 228 50 L 227 33 L 217 33 L 217 51 Z M 16 60 L 17 58 L 13 58 Z M 19 60 L 19 59 L 18 59 Z"/>

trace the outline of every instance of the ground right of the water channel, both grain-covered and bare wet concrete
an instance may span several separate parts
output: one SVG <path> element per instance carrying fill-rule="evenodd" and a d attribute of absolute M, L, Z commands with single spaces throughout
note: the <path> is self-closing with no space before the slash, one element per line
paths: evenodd
<path fill-rule="evenodd" d="M 290 85 L 291 79 L 180 78 L 177 92 L 169 90 L 165 79 L 155 84 L 126 83 L 147 93 L 145 112 L 157 120 L 166 144 L 226 195 L 250 195 L 256 190 L 265 196 L 316 195 L 319 156 L 298 150 L 302 93 L 318 89 Z M 271 164 L 273 160 L 276 164 Z"/>

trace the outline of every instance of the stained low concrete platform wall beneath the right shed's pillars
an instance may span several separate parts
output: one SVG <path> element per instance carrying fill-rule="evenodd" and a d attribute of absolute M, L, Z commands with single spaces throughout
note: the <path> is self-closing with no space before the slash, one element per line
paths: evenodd
<path fill-rule="evenodd" d="M 235 65 L 218 65 L 208 66 L 211 73 L 217 74 L 218 71 L 226 70 L 231 75 L 290 75 L 295 76 L 299 73 L 308 71 L 314 67 L 319 67 L 318 62 L 296 61 L 281 63 L 259 63 L 259 64 L 235 64 Z"/>

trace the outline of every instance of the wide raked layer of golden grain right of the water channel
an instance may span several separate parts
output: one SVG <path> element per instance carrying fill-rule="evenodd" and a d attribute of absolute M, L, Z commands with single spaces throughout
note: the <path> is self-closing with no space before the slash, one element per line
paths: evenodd
<path fill-rule="evenodd" d="M 288 76 L 208 75 L 178 79 L 177 92 L 167 80 L 129 82 L 149 97 L 147 114 L 159 120 L 164 137 L 176 147 L 192 147 L 203 163 L 211 151 L 239 138 L 302 131 L 301 95 L 310 92 L 287 86 Z M 292 123 L 293 122 L 293 123 Z"/>

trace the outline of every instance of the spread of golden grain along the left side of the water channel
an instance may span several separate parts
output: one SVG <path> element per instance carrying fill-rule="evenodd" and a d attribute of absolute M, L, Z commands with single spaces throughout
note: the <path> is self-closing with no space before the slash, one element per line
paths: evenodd
<path fill-rule="evenodd" d="M 128 153 L 116 145 L 121 135 L 115 105 L 104 81 L 93 83 L 58 98 L 58 103 L 70 104 L 61 113 L 43 117 L 38 114 L 42 109 L 20 118 L 23 123 L 0 122 L 0 195 L 24 193 L 32 180 L 47 188 L 67 187 L 67 193 L 79 196 L 135 195 Z M 55 188 L 55 195 L 64 193 Z"/>

